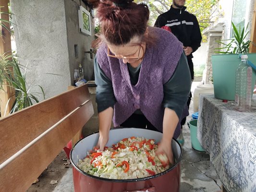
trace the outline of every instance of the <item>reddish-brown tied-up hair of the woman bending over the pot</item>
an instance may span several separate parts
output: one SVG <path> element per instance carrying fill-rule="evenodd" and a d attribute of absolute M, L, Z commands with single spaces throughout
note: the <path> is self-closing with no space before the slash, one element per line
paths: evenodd
<path fill-rule="evenodd" d="M 132 1 L 100 0 L 98 3 L 100 31 L 108 43 L 125 45 L 135 36 L 145 41 L 149 9 L 144 3 L 136 4 Z"/>

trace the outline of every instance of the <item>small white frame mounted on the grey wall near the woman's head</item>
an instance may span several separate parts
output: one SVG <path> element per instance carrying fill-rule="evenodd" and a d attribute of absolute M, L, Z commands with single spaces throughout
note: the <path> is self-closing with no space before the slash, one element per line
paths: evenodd
<path fill-rule="evenodd" d="M 85 35 L 92 35 L 91 14 L 84 7 L 78 6 L 79 31 Z"/>

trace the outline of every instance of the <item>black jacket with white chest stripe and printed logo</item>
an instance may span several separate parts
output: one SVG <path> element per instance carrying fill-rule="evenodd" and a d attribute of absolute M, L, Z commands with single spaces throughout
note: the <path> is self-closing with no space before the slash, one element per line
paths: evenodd
<path fill-rule="evenodd" d="M 202 36 L 195 15 L 185 9 L 186 7 L 174 9 L 171 6 L 168 12 L 158 16 L 155 27 L 169 26 L 173 35 L 183 43 L 183 46 L 191 47 L 195 52 L 201 46 Z M 190 54 L 187 58 L 193 58 L 193 55 Z"/>

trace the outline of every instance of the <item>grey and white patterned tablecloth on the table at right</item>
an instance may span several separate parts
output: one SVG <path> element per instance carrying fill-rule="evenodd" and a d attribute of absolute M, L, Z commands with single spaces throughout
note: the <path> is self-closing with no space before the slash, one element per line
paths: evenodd
<path fill-rule="evenodd" d="M 197 138 L 229 192 L 256 192 L 256 96 L 250 112 L 200 95 Z"/>

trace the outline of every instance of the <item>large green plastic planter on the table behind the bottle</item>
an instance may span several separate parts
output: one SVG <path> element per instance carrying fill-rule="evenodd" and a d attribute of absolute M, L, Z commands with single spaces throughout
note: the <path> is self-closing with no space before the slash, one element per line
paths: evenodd
<path fill-rule="evenodd" d="M 248 60 L 256 65 L 256 53 L 248 53 Z M 235 72 L 241 61 L 238 54 L 212 55 L 212 76 L 214 96 L 218 99 L 235 100 Z M 253 70 L 252 94 L 256 81 L 256 72 Z"/>

